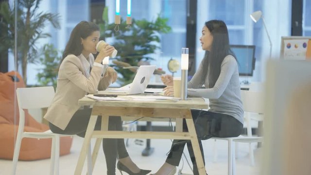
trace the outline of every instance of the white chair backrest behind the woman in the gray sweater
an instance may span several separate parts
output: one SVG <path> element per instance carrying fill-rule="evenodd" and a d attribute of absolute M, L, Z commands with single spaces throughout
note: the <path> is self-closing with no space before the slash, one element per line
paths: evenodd
<path fill-rule="evenodd" d="M 263 113 L 264 94 L 263 92 L 241 90 L 241 99 L 244 112 Z"/>

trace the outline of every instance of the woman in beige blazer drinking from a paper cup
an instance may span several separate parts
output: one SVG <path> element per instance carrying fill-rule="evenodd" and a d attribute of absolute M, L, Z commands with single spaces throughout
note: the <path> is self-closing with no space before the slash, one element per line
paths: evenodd
<path fill-rule="evenodd" d="M 101 64 L 104 57 L 114 51 L 114 47 L 106 44 L 94 59 L 99 37 L 99 27 L 93 22 L 81 21 L 71 32 L 59 67 L 56 92 L 44 116 L 53 133 L 84 137 L 92 108 L 81 108 L 78 100 L 87 93 L 95 93 L 97 89 L 105 90 L 110 82 L 117 79 L 117 72 L 113 68 L 104 70 Z M 100 129 L 101 118 L 95 125 L 95 130 Z M 110 117 L 108 129 L 122 130 L 121 117 Z M 103 150 L 107 175 L 116 174 L 117 156 L 120 171 L 129 175 L 146 175 L 150 172 L 139 169 L 131 160 L 123 139 L 103 139 Z"/>

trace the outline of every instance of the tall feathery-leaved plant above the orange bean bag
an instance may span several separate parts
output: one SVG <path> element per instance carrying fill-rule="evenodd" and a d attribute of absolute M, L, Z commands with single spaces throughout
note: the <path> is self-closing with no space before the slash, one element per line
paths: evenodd
<path fill-rule="evenodd" d="M 49 37 L 43 29 L 47 23 L 54 28 L 59 28 L 58 14 L 44 13 L 39 11 L 42 0 L 18 0 L 17 3 L 17 60 L 21 63 L 24 82 L 27 83 L 27 63 L 36 63 L 36 41 L 40 38 Z M 1 50 L 14 52 L 15 36 L 15 9 L 10 8 L 8 2 L 0 3 L 0 45 Z M 17 66 L 18 68 L 18 66 Z"/>

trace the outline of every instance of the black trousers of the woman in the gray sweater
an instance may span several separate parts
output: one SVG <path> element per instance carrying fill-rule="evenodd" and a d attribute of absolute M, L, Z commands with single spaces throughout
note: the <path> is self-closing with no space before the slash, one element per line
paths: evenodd
<path fill-rule="evenodd" d="M 230 115 L 196 109 L 191 110 L 191 114 L 204 165 L 205 160 L 201 140 L 207 140 L 211 137 L 237 137 L 241 134 L 243 129 L 243 124 Z M 183 131 L 188 131 L 185 119 L 183 120 Z M 193 174 L 199 175 L 190 140 L 173 140 L 171 151 L 166 162 L 178 166 L 186 143 L 193 164 Z"/>

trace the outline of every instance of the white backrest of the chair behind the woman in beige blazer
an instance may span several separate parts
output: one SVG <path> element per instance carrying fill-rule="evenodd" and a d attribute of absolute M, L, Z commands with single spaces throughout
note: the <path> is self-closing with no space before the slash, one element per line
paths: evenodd
<path fill-rule="evenodd" d="M 17 88 L 20 109 L 48 107 L 54 97 L 53 87 Z"/>

